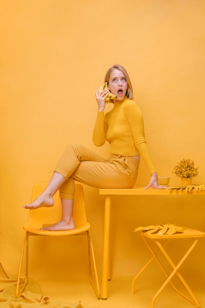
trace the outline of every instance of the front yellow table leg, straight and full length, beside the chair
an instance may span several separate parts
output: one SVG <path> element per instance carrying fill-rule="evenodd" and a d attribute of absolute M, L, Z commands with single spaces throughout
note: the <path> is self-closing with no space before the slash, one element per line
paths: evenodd
<path fill-rule="evenodd" d="M 110 254 L 110 212 L 111 196 L 105 197 L 105 217 L 104 217 L 104 240 L 103 240 L 103 266 L 102 266 L 102 294 L 101 299 L 108 298 L 108 272 Z"/>

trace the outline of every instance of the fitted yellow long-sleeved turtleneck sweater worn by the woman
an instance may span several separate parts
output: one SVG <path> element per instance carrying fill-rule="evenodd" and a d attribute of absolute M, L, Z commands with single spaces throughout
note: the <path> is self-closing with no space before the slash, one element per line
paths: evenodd
<path fill-rule="evenodd" d="M 114 108 L 106 114 L 98 111 L 93 143 L 100 147 L 106 140 L 111 145 L 111 154 L 141 155 L 150 174 L 156 172 L 146 146 L 143 115 L 132 99 L 114 103 Z"/>

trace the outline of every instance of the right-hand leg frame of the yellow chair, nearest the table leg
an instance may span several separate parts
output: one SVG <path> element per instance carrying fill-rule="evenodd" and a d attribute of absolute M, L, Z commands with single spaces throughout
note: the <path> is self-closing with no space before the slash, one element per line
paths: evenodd
<path fill-rule="evenodd" d="M 89 231 L 87 231 L 88 236 L 88 262 L 89 262 L 89 279 L 91 286 L 97 296 L 98 299 L 100 299 L 100 288 L 99 288 L 99 282 L 98 282 L 98 275 L 97 275 L 97 268 L 95 263 L 95 256 L 94 256 L 94 249 L 92 245 L 92 240 L 89 236 Z M 93 274 L 95 278 L 95 284 L 92 279 L 92 265 L 93 265 Z"/>

